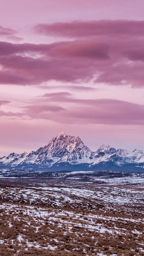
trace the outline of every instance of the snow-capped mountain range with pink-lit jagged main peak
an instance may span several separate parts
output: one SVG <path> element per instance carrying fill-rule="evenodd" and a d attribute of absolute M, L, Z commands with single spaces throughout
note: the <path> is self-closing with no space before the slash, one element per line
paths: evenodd
<path fill-rule="evenodd" d="M 48 145 L 36 151 L 23 154 L 11 153 L 0 158 L 0 167 L 14 167 L 33 170 L 121 170 L 143 171 L 144 150 L 116 150 L 102 145 L 92 152 L 80 137 L 61 133 Z"/>

